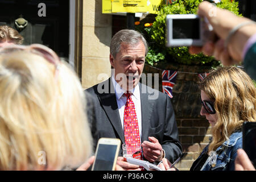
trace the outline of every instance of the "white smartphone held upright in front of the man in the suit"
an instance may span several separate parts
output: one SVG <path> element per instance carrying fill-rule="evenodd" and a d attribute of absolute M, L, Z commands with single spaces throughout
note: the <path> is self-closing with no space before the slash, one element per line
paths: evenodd
<path fill-rule="evenodd" d="M 114 171 L 121 145 L 117 138 L 100 138 L 92 171 Z"/>

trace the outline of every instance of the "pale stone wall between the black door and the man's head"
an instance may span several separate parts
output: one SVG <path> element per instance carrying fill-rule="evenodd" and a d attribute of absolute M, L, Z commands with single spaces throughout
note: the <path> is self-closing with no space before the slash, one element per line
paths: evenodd
<path fill-rule="evenodd" d="M 102 14 L 101 9 L 101 0 L 83 0 L 81 82 L 84 89 L 108 79 L 111 74 L 112 15 Z"/>

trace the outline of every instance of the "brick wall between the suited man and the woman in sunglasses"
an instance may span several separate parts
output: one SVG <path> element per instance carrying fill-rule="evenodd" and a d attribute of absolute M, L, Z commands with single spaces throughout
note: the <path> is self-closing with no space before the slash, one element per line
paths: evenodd
<path fill-rule="evenodd" d="M 209 122 L 200 116 L 200 90 L 197 88 L 197 73 L 209 71 L 207 67 L 188 67 L 185 65 L 158 65 L 161 69 L 145 65 L 144 73 L 159 73 L 159 90 L 162 92 L 162 71 L 172 69 L 179 71 L 176 84 L 172 90 L 172 105 L 175 110 L 179 139 L 185 152 L 184 158 L 176 164 L 180 170 L 187 171 L 209 143 Z"/>

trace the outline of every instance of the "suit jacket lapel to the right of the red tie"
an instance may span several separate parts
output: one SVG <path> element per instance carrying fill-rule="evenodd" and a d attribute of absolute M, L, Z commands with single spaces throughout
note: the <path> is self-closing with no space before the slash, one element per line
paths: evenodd
<path fill-rule="evenodd" d="M 148 140 L 148 132 L 150 130 L 150 118 L 154 106 L 154 100 L 148 100 L 148 92 L 142 93 L 142 85 L 139 83 L 139 88 L 141 92 L 141 120 L 142 120 L 142 138 L 141 142 Z M 144 89 L 143 89 L 144 90 Z M 148 91 L 148 90 L 147 90 Z"/>

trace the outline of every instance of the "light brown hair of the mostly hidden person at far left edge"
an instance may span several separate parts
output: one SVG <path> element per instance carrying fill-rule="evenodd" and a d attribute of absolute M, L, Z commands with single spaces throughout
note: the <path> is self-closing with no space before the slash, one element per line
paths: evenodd
<path fill-rule="evenodd" d="M 8 26 L 0 26 L 0 40 L 1 39 L 12 41 L 14 44 L 18 45 L 22 44 L 24 40 L 23 36 L 21 36 L 18 31 Z"/>

